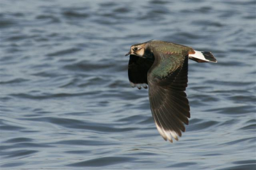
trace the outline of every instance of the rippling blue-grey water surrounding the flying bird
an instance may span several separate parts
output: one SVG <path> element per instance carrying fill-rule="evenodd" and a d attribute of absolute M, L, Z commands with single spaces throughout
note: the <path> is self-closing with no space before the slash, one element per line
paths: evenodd
<path fill-rule="evenodd" d="M 255 1 L 1 1 L 1 169 L 256 169 Z M 130 45 L 189 61 L 180 141 L 127 77 Z"/>

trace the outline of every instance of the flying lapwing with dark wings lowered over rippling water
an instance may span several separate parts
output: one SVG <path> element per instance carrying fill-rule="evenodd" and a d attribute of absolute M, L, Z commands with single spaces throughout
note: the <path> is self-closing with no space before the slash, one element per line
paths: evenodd
<path fill-rule="evenodd" d="M 132 88 L 148 88 L 150 109 L 159 134 L 165 141 L 179 141 L 190 118 L 185 93 L 188 59 L 197 63 L 217 63 L 216 58 L 211 52 L 161 40 L 131 45 L 125 56 L 128 55 L 130 84 Z"/>

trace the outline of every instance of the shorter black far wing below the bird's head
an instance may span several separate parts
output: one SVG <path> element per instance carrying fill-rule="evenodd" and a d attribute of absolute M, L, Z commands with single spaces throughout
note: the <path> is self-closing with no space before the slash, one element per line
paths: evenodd
<path fill-rule="evenodd" d="M 152 66 L 153 62 L 154 61 L 150 61 L 145 58 L 130 55 L 128 65 L 128 77 L 132 88 L 137 86 L 140 89 L 141 84 L 143 84 L 144 88 L 147 88 L 147 73 L 149 68 Z"/>

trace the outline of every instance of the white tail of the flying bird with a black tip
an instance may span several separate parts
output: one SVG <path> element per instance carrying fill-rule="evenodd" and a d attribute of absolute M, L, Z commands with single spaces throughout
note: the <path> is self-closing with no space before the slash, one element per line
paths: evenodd
<path fill-rule="evenodd" d="M 211 52 L 195 50 L 195 54 L 189 54 L 188 58 L 196 61 L 197 63 L 217 63 L 217 59 L 214 58 Z"/>

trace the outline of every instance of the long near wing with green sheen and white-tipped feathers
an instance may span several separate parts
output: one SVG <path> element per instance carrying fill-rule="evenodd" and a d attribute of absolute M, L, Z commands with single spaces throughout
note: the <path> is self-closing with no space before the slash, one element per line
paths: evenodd
<path fill-rule="evenodd" d="M 148 72 L 149 99 L 157 130 L 165 140 L 178 140 L 185 132 L 184 123 L 190 118 L 189 102 L 186 97 L 188 86 L 188 55 L 169 54 L 161 58 Z"/>

